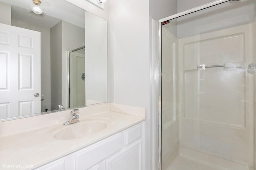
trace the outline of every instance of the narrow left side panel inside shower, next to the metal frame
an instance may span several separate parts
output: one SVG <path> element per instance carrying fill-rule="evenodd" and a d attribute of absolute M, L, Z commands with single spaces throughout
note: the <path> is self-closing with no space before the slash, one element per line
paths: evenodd
<path fill-rule="evenodd" d="M 178 154 L 178 115 L 176 100 L 176 57 L 178 39 L 171 29 L 162 29 L 162 155 L 163 169 Z"/>

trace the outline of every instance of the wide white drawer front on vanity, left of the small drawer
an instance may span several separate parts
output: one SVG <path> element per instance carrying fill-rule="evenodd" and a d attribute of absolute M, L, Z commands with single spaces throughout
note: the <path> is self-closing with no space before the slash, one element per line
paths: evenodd
<path fill-rule="evenodd" d="M 121 135 L 116 134 L 75 153 L 76 170 L 87 170 L 121 150 Z"/>

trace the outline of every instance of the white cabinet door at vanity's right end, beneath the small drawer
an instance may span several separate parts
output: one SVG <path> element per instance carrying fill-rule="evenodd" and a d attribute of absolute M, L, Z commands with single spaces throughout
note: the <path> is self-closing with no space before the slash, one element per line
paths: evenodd
<path fill-rule="evenodd" d="M 106 170 L 142 170 L 142 141 L 138 140 L 108 158 Z"/>

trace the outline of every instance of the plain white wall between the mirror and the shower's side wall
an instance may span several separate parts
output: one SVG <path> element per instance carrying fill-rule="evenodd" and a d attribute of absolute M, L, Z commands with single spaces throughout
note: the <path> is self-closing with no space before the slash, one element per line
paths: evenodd
<path fill-rule="evenodd" d="M 110 1 L 114 103 L 146 108 L 145 170 L 150 170 L 150 49 L 148 0 Z"/>

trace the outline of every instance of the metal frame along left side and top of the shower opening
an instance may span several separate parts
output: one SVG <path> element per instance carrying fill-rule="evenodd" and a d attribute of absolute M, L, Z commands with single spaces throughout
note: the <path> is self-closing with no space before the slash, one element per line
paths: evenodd
<path fill-rule="evenodd" d="M 218 4 L 222 4 L 231 0 L 215 0 L 208 4 L 168 16 L 158 20 L 158 170 L 162 170 L 162 22 L 178 18 L 193 12 L 204 10 Z M 161 105 L 159 105 L 161 103 Z"/>

